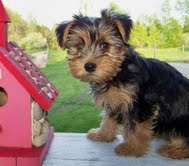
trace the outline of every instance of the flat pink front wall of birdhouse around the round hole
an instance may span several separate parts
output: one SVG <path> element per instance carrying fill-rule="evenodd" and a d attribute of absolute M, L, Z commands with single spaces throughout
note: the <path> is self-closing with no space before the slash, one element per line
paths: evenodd
<path fill-rule="evenodd" d="M 0 87 L 8 94 L 0 108 L 0 146 L 31 147 L 31 96 L 0 61 Z"/>

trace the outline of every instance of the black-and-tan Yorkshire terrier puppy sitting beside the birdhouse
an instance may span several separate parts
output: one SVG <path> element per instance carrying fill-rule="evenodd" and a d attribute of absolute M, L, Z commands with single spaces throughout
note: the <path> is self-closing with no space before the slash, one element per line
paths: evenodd
<path fill-rule="evenodd" d="M 128 44 L 132 20 L 103 10 L 100 18 L 74 15 L 58 25 L 57 40 L 68 50 L 72 75 L 89 82 L 97 106 L 104 109 L 100 128 L 88 138 L 109 142 L 123 126 L 119 155 L 142 156 L 155 135 L 168 144 L 158 152 L 189 157 L 189 80 L 165 62 L 146 59 Z"/>

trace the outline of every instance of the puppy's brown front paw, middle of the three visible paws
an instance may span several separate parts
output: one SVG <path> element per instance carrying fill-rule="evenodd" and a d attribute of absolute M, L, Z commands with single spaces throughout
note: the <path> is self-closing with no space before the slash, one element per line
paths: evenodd
<path fill-rule="evenodd" d="M 115 149 L 115 153 L 121 156 L 135 156 L 140 157 L 145 154 L 145 152 L 141 149 L 133 149 L 127 143 L 119 144 Z"/>

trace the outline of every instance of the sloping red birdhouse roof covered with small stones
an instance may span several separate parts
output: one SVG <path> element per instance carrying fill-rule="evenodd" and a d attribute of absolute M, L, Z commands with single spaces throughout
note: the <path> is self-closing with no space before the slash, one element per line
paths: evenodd
<path fill-rule="evenodd" d="M 7 49 L 0 47 L 0 61 L 44 110 L 51 107 L 57 89 L 16 43 L 9 42 Z"/>

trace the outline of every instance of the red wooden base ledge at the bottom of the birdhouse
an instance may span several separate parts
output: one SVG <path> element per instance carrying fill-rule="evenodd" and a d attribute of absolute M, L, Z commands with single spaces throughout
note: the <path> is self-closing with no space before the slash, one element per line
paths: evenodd
<path fill-rule="evenodd" d="M 11 162 L 16 159 L 16 166 L 41 166 L 48 152 L 53 137 L 54 130 L 53 128 L 51 128 L 47 143 L 40 148 L 0 148 L 0 161 Z"/>

